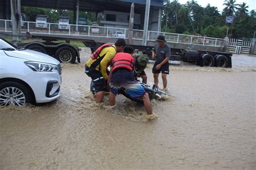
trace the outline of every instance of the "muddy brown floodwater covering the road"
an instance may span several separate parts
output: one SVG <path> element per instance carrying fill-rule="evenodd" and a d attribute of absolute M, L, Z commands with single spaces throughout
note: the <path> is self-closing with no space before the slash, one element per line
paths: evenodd
<path fill-rule="evenodd" d="M 62 96 L 0 108 L 0 169 L 255 169 L 255 57 L 233 68 L 173 62 L 169 99 L 95 104 L 82 63 L 63 64 Z M 152 85 L 152 64 L 146 68 Z M 161 87 L 161 80 L 160 80 Z"/>

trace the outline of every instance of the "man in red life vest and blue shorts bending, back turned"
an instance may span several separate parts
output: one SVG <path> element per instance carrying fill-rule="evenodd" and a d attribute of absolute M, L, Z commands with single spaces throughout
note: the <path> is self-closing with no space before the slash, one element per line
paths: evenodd
<path fill-rule="evenodd" d="M 123 53 L 117 53 L 112 59 L 111 70 L 109 75 L 110 82 L 110 105 L 116 103 L 116 95 L 119 87 L 125 88 L 127 93 L 134 98 L 142 98 L 144 107 L 148 115 L 152 114 L 152 105 L 150 103 L 149 94 L 146 93 L 144 88 L 135 80 L 134 58 L 132 56 L 133 48 L 125 46 Z"/>

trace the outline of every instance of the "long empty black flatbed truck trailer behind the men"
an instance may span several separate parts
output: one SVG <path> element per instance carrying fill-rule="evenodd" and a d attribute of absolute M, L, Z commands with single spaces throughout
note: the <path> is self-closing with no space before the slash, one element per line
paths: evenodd
<path fill-rule="evenodd" d="M 69 44 L 70 40 L 78 40 L 75 38 L 56 38 L 50 36 L 33 36 L 27 33 L 30 38 L 41 38 L 44 42 L 29 42 L 28 44 L 20 44 L 24 48 L 33 49 L 39 52 L 49 54 L 60 62 L 71 62 L 74 63 L 79 58 L 79 49 L 73 47 Z M 56 40 L 66 40 L 68 43 L 56 43 Z M 80 40 L 80 39 L 79 39 Z M 81 40 L 86 47 L 91 48 L 93 53 L 99 46 L 103 45 L 105 42 L 96 42 L 94 40 L 83 39 Z M 139 46 L 130 45 L 134 48 L 134 51 L 138 53 L 147 54 L 150 59 L 152 59 L 152 46 Z M 173 61 L 184 61 L 184 62 L 194 62 L 198 66 L 206 67 L 232 67 L 231 60 L 232 53 L 227 52 L 214 52 L 214 51 L 199 51 L 196 49 L 180 49 L 171 48 L 170 60 Z"/>

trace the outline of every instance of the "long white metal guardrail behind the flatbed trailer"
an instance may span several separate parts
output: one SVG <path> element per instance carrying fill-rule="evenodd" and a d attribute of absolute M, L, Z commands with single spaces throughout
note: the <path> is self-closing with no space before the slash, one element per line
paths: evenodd
<path fill-rule="evenodd" d="M 68 29 L 59 29 L 55 23 L 46 23 L 46 28 L 37 27 L 36 22 L 22 22 L 22 33 L 30 32 L 37 34 L 52 34 L 52 35 L 71 35 L 71 36 L 85 36 L 85 37 L 106 37 L 128 38 L 129 29 L 116 28 L 116 27 L 103 27 L 103 26 L 89 26 L 89 25 L 73 25 L 69 24 Z M 115 32 L 122 32 L 121 34 L 114 34 Z M 11 20 L 0 19 L 0 32 L 12 32 Z M 191 36 L 186 34 L 176 34 L 167 32 L 147 31 L 147 41 L 155 41 L 157 36 L 161 34 L 165 36 L 167 42 L 181 43 L 181 44 L 194 44 L 203 46 L 224 46 L 224 39 Z M 142 40 L 143 30 L 133 30 L 132 39 Z"/>

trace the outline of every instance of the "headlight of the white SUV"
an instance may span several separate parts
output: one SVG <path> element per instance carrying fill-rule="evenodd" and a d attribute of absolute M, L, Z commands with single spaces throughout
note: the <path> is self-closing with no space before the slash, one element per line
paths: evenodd
<path fill-rule="evenodd" d="M 35 72 L 53 72 L 57 69 L 56 65 L 51 65 L 49 63 L 35 61 L 25 61 L 24 63 Z"/>

